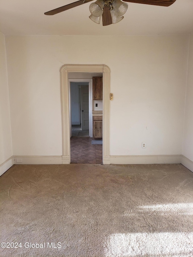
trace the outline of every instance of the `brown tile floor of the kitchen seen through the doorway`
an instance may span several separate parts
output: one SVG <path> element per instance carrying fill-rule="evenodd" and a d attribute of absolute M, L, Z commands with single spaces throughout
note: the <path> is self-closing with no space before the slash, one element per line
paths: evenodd
<path fill-rule="evenodd" d="M 102 164 L 103 145 L 92 145 L 92 137 L 71 137 L 71 164 Z"/>

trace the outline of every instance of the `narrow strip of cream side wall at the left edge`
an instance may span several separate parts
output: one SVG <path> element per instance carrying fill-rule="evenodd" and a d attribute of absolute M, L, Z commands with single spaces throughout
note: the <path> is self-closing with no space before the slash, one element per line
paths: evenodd
<path fill-rule="evenodd" d="M 12 156 L 5 36 L 0 32 L 0 175 L 2 166 Z M 10 168 L 6 166 L 7 168 Z M 2 169 L 1 169 L 2 168 Z"/>

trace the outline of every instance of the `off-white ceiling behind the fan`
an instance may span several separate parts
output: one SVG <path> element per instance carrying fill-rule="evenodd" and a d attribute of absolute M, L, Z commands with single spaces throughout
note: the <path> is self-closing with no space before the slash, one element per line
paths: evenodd
<path fill-rule="evenodd" d="M 193 0 L 169 7 L 128 3 L 124 19 L 102 26 L 89 19 L 90 3 L 52 16 L 44 12 L 75 0 L 0 0 L 0 31 L 5 35 L 163 35 L 193 32 Z"/>

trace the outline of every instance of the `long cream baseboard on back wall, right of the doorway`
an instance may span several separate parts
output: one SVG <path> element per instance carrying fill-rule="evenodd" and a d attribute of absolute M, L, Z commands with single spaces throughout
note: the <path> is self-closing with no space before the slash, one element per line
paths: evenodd
<path fill-rule="evenodd" d="M 110 164 L 181 163 L 182 155 L 111 155 Z"/>

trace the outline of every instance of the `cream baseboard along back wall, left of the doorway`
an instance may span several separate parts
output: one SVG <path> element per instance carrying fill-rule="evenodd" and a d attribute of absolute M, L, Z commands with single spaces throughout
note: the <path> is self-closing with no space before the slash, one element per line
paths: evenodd
<path fill-rule="evenodd" d="M 14 164 L 62 164 L 62 155 L 55 156 L 25 156 L 14 155 Z"/>

